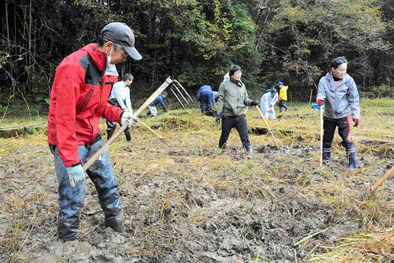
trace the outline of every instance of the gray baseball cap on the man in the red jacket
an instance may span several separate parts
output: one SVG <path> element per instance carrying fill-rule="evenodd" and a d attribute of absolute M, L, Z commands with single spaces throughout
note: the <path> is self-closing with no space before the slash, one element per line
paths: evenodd
<path fill-rule="evenodd" d="M 125 23 L 109 23 L 101 30 L 101 36 L 107 41 L 121 45 L 133 60 L 142 59 L 134 47 L 134 33 Z"/>

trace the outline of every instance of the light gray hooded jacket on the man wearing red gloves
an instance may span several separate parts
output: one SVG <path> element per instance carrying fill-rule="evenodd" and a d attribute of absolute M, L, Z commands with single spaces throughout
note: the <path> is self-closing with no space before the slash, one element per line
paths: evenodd
<path fill-rule="evenodd" d="M 360 119 L 359 92 L 353 78 L 348 74 L 345 74 L 339 85 L 336 86 L 332 72 L 328 72 L 320 79 L 317 99 L 324 100 L 325 117 L 339 119 L 347 117 L 351 113 L 353 119 Z"/>

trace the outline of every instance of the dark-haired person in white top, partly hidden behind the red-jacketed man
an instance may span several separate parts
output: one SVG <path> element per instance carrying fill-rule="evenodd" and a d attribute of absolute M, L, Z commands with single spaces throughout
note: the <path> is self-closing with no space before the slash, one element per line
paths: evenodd
<path fill-rule="evenodd" d="M 122 81 L 116 82 L 112 87 L 111 95 L 109 96 L 108 103 L 121 108 L 123 111 L 132 114 L 130 88 L 134 77 L 130 73 L 123 75 Z M 106 121 L 107 124 L 107 139 L 109 139 L 116 129 L 116 122 Z M 131 129 L 125 130 L 127 141 L 131 141 Z"/>

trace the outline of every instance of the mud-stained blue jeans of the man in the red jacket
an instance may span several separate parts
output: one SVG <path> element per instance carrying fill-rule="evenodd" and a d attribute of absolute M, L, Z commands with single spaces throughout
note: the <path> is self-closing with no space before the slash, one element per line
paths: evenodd
<path fill-rule="evenodd" d="M 81 163 L 94 155 L 103 145 L 101 138 L 91 145 L 79 145 L 78 156 Z M 66 166 L 59 155 L 58 147 L 50 145 L 55 160 L 55 170 L 59 182 L 59 217 L 58 232 L 61 238 L 72 238 L 79 228 L 79 210 L 83 207 L 85 197 L 85 180 L 71 187 Z M 123 220 L 122 208 L 118 192 L 118 181 L 112 171 L 108 153 L 105 150 L 86 171 L 96 186 L 99 202 L 104 211 L 106 221 Z"/>

